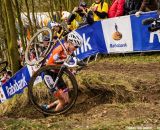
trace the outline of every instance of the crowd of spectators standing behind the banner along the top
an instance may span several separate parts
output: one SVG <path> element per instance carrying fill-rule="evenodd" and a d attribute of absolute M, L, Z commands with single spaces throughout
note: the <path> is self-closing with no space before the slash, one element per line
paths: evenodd
<path fill-rule="evenodd" d="M 139 17 L 142 12 L 157 10 L 160 6 L 160 0 L 112 0 L 111 4 L 105 0 L 94 0 L 94 3 L 89 6 L 86 2 L 81 2 L 71 12 L 62 11 L 61 22 L 65 23 L 66 28 L 58 22 L 44 20 L 44 26 L 49 26 L 54 30 L 53 38 L 63 38 L 68 32 L 75 30 L 83 25 L 106 19 L 119 17 L 123 15 L 135 14 Z M 27 40 L 31 38 L 27 30 Z M 22 65 L 24 65 L 24 51 L 21 41 L 18 40 L 19 53 L 21 56 Z"/>

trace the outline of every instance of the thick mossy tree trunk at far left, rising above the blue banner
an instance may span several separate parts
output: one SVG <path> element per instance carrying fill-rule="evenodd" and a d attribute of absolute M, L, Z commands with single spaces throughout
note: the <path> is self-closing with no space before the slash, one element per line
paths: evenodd
<path fill-rule="evenodd" d="M 16 27 L 15 27 L 15 18 L 14 13 L 11 5 L 10 0 L 4 0 L 5 3 L 5 9 L 6 9 L 6 20 L 8 21 L 8 49 L 9 49 L 9 56 L 11 59 L 11 70 L 12 73 L 16 73 L 20 68 L 20 58 L 18 53 L 18 45 L 17 45 L 17 39 L 16 39 Z"/>

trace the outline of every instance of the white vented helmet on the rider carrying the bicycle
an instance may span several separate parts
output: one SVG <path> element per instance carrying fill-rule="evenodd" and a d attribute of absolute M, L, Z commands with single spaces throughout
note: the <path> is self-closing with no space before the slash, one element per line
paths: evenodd
<path fill-rule="evenodd" d="M 83 38 L 76 31 L 72 31 L 68 34 L 68 41 L 71 41 L 75 47 L 80 47 L 83 44 Z"/>

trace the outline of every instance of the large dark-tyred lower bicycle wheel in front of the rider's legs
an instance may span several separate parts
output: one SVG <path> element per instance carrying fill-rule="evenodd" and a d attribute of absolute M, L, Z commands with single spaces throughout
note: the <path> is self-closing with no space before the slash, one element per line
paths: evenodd
<path fill-rule="evenodd" d="M 58 70 L 59 67 L 55 66 L 44 66 L 40 68 L 30 80 L 28 86 L 28 95 L 30 101 L 33 103 L 35 108 L 47 115 L 58 115 L 67 112 L 76 102 L 78 96 L 78 85 L 74 75 L 68 70 L 65 69 L 62 75 L 62 79 L 66 84 L 69 94 L 69 102 L 65 105 L 65 107 L 59 111 L 55 111 L 54 107 L 46 110 L 42 108 L 43 104 L 50 104 L 56 101 L 56 98 L 50 92 L 49 88 L 47 87 L 46 83 L 44 82 L 43 77 L 46 71 L 53 72 L 54 70 Z"/>

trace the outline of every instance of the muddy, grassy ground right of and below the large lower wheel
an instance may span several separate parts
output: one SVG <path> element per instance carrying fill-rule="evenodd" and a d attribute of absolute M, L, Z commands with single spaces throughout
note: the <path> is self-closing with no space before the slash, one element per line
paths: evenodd
<path fill-rule="evenodd" d="M 0 128 L 158 130 L 159 59 L 157 55 L 135 59 L 131 56 L 103 57 L 77 75 L 79 97 L 69 112 L 44 117 L 29 104 L 1 116 Z"/>

